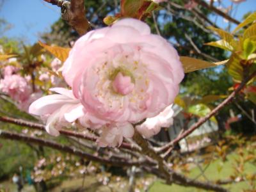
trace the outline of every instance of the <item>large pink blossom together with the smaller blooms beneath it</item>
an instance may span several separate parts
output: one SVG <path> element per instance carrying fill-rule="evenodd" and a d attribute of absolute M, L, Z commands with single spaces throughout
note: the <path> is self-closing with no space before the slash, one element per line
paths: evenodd
<path fill-rule="evenodd" d="M 136 126 L 145 137 L 170 126 L 170 105 L 184 77 L 177 51 L 136 19 L 79 38 L 62 74 L 71 90 L 52 88 L 58 94 L 36 100 L 29 113 L 46 116 L 46 130 L 54 136 L 72 124 L 99 131 L 100 147 L 132 138 L 133 125 L 145 119 Z"/>

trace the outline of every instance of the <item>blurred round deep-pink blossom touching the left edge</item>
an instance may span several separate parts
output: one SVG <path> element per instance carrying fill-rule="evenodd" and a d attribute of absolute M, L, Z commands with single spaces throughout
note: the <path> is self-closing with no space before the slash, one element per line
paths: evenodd
<path fill-rule="evenodd" d="M 0 90 L 8 94 L 16 102 L 24 102 L 32 93 L 26 79 L 20 75 L 5 76 L 0 80 Z"/>

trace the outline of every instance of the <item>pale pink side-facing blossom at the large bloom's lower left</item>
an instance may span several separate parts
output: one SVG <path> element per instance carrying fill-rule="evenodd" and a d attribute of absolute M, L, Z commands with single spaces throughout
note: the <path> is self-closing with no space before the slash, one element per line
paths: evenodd
<path fill-rule="evenodd" d="M 72 122 L 84 115 L 83 106 L 72 91 L 65 88 L 52 88 L 52 92 L 60 94 L 47 95 L 29 106 L 29 113 L 47 116 L 45 129 L 52 136 L 58 136 L 61 127 L 68 127 Z"/>

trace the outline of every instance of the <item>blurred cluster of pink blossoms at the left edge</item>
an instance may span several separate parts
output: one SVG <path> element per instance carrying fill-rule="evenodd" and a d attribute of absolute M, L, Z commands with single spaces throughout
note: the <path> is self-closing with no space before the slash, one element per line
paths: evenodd
<path fill-rule="evenodd" d="M 12 58 L 8 63 L 15 63 Z M 3 79 L 0 79 L 0 91 L 9 95 L 22 111 L 28 111 L 29 105 L 36 99 L 42 97 L 42 93 L 33 93 L 29 84 L 29 77 L 22 77 L 18 74 L 19 68 L 7 65 L 3 68 Z"/>

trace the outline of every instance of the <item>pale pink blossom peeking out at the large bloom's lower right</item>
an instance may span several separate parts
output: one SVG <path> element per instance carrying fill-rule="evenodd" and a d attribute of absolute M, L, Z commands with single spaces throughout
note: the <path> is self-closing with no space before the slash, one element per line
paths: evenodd
<path fill-rule="evenodd" d="M 138 125 L 136 129 L 145 136 L 145 138 L 150 138 L 151 136 L 157 134 L 161 127 L 170 127 L 173 124 L 173 109 L 172 105 L 164 109 L 159 115 L 152 118 L 147 118 L 143 124 Z"/>

